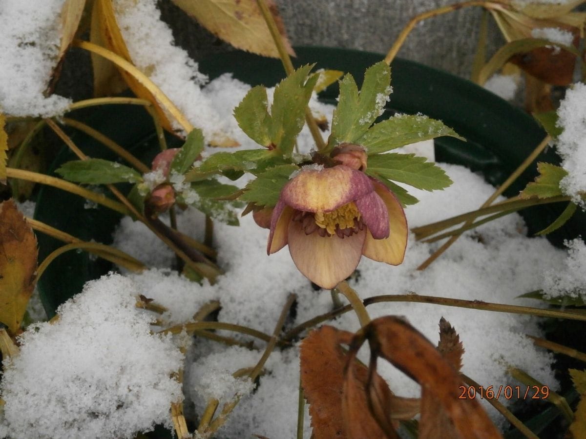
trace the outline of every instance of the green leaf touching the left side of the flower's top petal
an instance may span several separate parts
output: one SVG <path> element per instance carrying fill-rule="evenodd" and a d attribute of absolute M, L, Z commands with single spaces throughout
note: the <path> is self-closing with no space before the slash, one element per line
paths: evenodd
<path fill-rule="evenodd" d="M 271 167 L 246 185 L 240 200 L 255 203 L 257 206 L 273 207 L 279 201 L 281 190 L 289 181 L 291 174 L 299 170 L 294 164 Z"/>

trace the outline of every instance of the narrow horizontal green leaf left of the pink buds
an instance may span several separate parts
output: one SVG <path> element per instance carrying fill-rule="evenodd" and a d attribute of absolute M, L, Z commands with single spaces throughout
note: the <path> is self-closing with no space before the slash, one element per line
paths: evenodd
<path fill-rule="evenodd" d="M 55 171 L 64 179 L 86 184 L 138 183 L 142 176 L 134 169 L 103 159 L 74 160 Z"/>

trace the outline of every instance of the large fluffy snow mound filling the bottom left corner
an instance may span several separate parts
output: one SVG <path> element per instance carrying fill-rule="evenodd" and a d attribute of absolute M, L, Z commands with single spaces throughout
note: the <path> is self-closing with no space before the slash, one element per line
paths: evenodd
<path fill-rule="evenodd" d="M 183 354 L 149 332 L 138 294 L 130 279 L 105 276 L 60 306 L 59 320 L 24 332 L 0 383 L 10 437 L 132 438 L 171 427 Z"/>

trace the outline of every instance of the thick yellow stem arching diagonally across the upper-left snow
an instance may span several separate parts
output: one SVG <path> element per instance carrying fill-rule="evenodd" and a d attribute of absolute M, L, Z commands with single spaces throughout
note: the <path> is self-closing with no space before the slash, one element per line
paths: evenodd
<path fill-rule="evenodd" d="M 176 105 L 173 104 L 173 102 L 169 100 L 165 93 L 163 93 L 155 83 L 153 83 L 144 73 L 142 73 L 142 71 L 138 70 L 137 67 L 133 66 L 121 56 L 118 56 L 114 52 L 104 49 L 104 47 L 100 47 L 97 44 L 81 40 L 73 40 L 72 45 L 74 47 L 79 47 L 80 49 L 88 50 L 88 52 L 96 53 L 105 59 L 112 61 L 114 64 L 116 64 L 117 67 L 122 68 L 122 70 L 127 71 L 129 74 L 134 76 L 139 81 L 139 83 L 144 85 L 144 87 L 147 88 L 149 92 L 151 92 L 151 94 L 158 102 L 161 102 L 163 107 L 165 107 L 167 111 L 173 115 L 175 120 L 186 132 L 189 133 L 193 130 L 193 125 L 182 114 L 182 112 L 179 111 Z"/>

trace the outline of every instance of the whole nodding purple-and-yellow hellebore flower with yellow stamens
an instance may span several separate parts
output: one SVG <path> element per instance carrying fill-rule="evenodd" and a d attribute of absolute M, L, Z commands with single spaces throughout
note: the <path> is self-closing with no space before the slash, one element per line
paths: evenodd
<path fill-rule="evenodd" d="M 393 193 L 354 167 L 308 166 L 285 184 L 272 212 L 267 253 L 285 245 L 305 277 L 331 289 L 362 255 L 403 262 L 407 220 Z"/>

